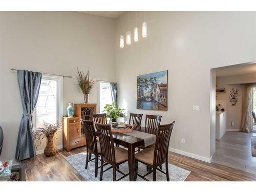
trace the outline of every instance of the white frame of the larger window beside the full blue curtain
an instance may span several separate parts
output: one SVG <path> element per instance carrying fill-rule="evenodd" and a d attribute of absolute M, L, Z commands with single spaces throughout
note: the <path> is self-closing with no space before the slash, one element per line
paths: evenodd
<path fill-rule="evenodd" d="M 56 121 L 60 122 L 62 121 L 62 117 L 63 117 L 63 77 L 62 76 L 58 76 L 58 75 L 48 75 L 48 74 L 42 74 L 42 79 L 47 79 L 47 80 L 55 80 L 57 81 L 57 114 L 56 114 Z M 33 126 L 34 129 L 37 129 L 38 127 L 36 126 L 36 106 L 33 112 Z M 61 129 L 59 129 L 59 131 L 62 131 L 63 127 L 61 127 Z"/>

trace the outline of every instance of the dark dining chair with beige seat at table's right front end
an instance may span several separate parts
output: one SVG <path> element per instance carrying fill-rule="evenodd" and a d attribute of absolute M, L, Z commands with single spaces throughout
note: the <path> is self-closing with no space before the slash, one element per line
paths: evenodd
<path fill-rule="evenodd" d="M 172 134 L 175 121 L 166 125 L 159 125 L 157 132 L 157 139 L 155 148 L 145 148 L 141 152 L 135 154 L 135 181 L 137 176 L 149 181 L 145 177 L 153 172 L 153 181 L 156 181 L 156 170 L 164 173 L 163 170 L 159 169 L 158 166 L 165 163 L 165 175 L 166 180 L 169 181 L 169 170 L 168 170 L 168 148 L 170 142 L 170 135 Z M 138 174 L 138 163 L 141 162 L 148 167 L 153 169 L 146 173 L 144 176 Z"/>

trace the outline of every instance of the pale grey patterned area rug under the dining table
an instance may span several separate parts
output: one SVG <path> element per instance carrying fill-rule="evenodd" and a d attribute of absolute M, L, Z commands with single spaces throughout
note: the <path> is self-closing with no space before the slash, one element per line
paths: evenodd
<path fill-rule="evenodd" d="M 94 158 L 94 156 L 92 155 L 92 158 Z M 76 170 L 77 172 L 86 180 L 86 181 L 99 181 L 99 175 L 100 175 L 100 168 L 98 169 L 98 177 L 95 178 L 94 177 L 94 164 L 95 161 L 91 161 L 88 163 L 88 168 L 85 169 L 85 165 L 86 165 L 86 152 L 84 153 L 79 153 L 79 154 L 75 154 L 75 155 L 71 155 L 65 158 Z M 99 166 L 100 166 L 100 161 L 99 162 Z M 165 172 L 165 164 L 163 164 L 163 172 Z M 105 165 L 104 166 L 104 170 L 106 168 L 108 168 L 110 165 Z M 168 168 L 169 168 L 169 178 L 170 181 L 184 181 L 187 176 L 190 174 L 190 171 L 183 169 L 181 167 L 172 165 L 172 164 L 168 164 Z M 128 173 L 129 169 L 128 169 L 128 163 L 125 162 L 123 164 L 121 164 L 119 166 L 119 169 L 121 170 L 121 172 L 123 173 Z M 138 165 L 138 173 L 140 175 L 145 175 L 146 174 L 146 165 L 139 163 Z M 117 172 L 116 174 L 116 178 L 119 179 L 122 175 L 120 173 Z M 150 181 L 152 181 L 153 179 L 153 175 L 150 174 L 148 176 L 146 176 L 146 178 Z M 109 169 L 108 171 L 103 173 L 103 179 L 102 181 L 112 181 L 113 180 L 113 169 Z M 166 176 L 165 174 L 159 172 L 157 170 L 156 172 L 156 180 L 157 181 L 166 181 Z M 129 181 L 129 176 L 123 178 L 120 181 Z M 141 179 L 140 177 L 137 177 L 137 181 L 144 181 L 143 179 Z"/>

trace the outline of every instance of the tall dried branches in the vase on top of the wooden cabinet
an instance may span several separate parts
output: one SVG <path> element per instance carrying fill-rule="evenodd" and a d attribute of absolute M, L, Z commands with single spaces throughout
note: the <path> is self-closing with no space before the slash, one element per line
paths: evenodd
<path fill-rule="evenodd" d="M 79 71 L 77 68 L 78 76 L 76 77 L 77 84 L 79 89 L 83 94 L 90 94 L 91 89 L 94 86 L 95 80 L 93 78 L 89 78 L 89 70 L 85 75 L 83 71 Z"/>

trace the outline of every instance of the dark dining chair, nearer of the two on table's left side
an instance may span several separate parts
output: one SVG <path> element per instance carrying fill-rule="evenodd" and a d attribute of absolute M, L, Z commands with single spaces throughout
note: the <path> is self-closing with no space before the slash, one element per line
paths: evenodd
<path fill-rule="evenodd" d="M 101 148 L 101 168 L 100 168 L 100 181 L 102 181 L 103 173 L 113 168 L 113 181 L 119 181 L 128 174 L 124 174 L 118 169 L 118 166 L 128 160 L 128 151 L 121 147 L 114 147 L 113 137 L 111 133 L 110 124 L 101 124 L 95 122 L 97 133 L 99 136 L 99 143 Z M 109 168 L 103 171 L 103 163 L 110 164 Z M 116 179 L 116 172 L 123 176 Z"/>

